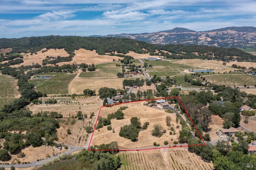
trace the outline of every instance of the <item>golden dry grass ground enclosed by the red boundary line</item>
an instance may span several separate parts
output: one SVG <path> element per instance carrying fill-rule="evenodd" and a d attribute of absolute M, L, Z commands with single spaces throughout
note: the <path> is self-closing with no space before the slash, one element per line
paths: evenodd
<path fill-rule="evenodd" d="M 149 107 L 144 105 L 145 102 L 134 102 L 126 103 L 122 105 L 116 105 L 113 107 L 102 107 L 100 116 L 107 117 L 108 114 L 114 113 L 120 107 L 127 106 L 128 109 L 124 110 L 124 119 L 122 120 L 111 120 L 112 129 L 115 130 L 113 133 L 112 130 L 107 130 L 107 127 L 100 128 L 100 131 L 95 130 L 92 136 L 91 145 L 100 145 L 102 143 L 108 144 L 112 141 L 116 141 L 120 149 L 125 148 L 145 148 L 153 147 L 153 143 L 157 142 L 160 146 L 164 146 L 164 141 L 168 141 L 169 144 L 173 144 L 174 141 L 178 141 L 179 130 L 181 127 L 175 128 L 176 135 L 170 135 L 169 127 L 166 126 L 165 120 L 166 116 L 169 115 L 174 123 L 174 127 L 177 126 L 175 123 L 176 115 L 166 113 L 164 109 L 158 109 L 155 107 Z M 129 139 L 119 136 L 120 127 L 130 124 L 130 119 L 132 117 L 140 118 L 140 122 L 143 125 L 145 122 L 149 122 L 149 126 L 146 130 L 140 131 L 137 142 L 132 142 Z M 166 133 L 164 133 L 160 138 L 152 136 L 151 131 L 155 124 L 160 124 Z M 173 138 L 173 140 L 171 140 Z"/>

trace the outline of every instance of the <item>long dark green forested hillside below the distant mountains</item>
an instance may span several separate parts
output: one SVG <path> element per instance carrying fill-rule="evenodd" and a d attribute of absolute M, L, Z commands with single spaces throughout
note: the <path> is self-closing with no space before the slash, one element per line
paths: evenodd
<path fill-rule="evenodd" d="M 256 62 L 254 55 L 236 48 L 178 44 L 157 45 L 127 38 L 45 36 L 18 39 L 0 39 L 0 48 L 8 47 L 12 47 L 12 51 L 10 53 L 34 53 L 43 48 L 64 48 L 70 54 L 70 57 L 74 55 L 74 50 L 84 48 L 96 50 L 96 52 L 100 55 L 115 51 L 123 54 L 126 54 L 129 51 L 134 51 L 136 53 L 150 53 L 150 55 L 160 55 L 173 59 L 200 58 L 230 61 L 235 57 L 237 61 Z M 168 51 L 172 54 L 161 50 Z"/>

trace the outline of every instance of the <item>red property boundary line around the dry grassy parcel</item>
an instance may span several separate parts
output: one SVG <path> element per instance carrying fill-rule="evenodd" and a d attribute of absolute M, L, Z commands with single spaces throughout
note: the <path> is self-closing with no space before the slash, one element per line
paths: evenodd
<path fill-rule="evenodd" d="M 182 107 L 184 108 L 186 114 L 188 115 L 190 121 L 192 122 L 194 128 L 196 129 L 196 132 L 198 132 L 201 140 L 203 141 L 204 144 L 196 144 L 196 145 L 180 145 L 180 146 L 160 146 L 160 147 L 154 147 L 154 148 L 134 148 L 134 149 L 119 149 L 119 150 L 111 150 L 111 149 L 90 149 L 90 144 L 92 142 L 92 137 L 93 137 L 93 134 L 94 134 L 94 131 L 95 131 L 95 128 L 96 128 L 96 125 L 97 125 L 97 122 L 98 122 L 98 118 L 100 116 L 100 111 L 102 109 L 102 107 L 110 107 L 110 106 L 115 106 L 115 105 L 122 105 L 122 104 L 125 104 L 125 103 L 134 103 L 134 102 L 141 102 L 141 101 L 152 101 L 152 100 L 159 100 L 159 99 L 173 99 L 173 98 L 178 98 L 178 100 L 180 101 L 180 104 L 182 105 Z M 93 129 L 93 132 L 92 132 L 92 136 L 91 136 L 91 139 L 90 139 L 90 143 L 88 145 L 88 148 L 87 150 L 90 150 L 90 151 L 139 151 L 139 150 L 153 150 L 153 149 L 162 149 L 162 148 L 179 148 L 179 147 L 188 147 L 188 146 L 205 146 L 206 143 L 204 142 L 204 139 L 202 138 L 201 134 L 199 133 L 198 129 L 196 128 L 196 125 L 194 124 L 194 122 L 192 121 L 190 115 L 188 114 L 188 111 L 186 110 L 186 108 L 184 107 L 182 101 L 180 100 L 180 98 L 178 96 L 175 96 L 175 97 L 164 97 L 164 98 L 159 98 L 159 99 L 148 99 L 148 100 L 140 100 L 140 101 L 131 101 L 131 102 L 124 102 L 124 103 L 116 103 L 116 104 L 112 104 L 112 105 L 105 105 L 105 106 L 101 106 L 100 107 L 100 110 L 99 110 L 99 114 L 98 114 L 98 117 L 96 119 L 96 123 L 94 125 L 94 129 Z"/>

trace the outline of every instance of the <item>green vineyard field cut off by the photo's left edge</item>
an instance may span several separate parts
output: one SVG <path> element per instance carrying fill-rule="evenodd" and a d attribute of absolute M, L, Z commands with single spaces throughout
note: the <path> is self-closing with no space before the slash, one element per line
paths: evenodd
<path fill-rule="evenodd" d="M 17 80 L 14 77 L 0 75 L 0 109 L 20 97 Z"/>

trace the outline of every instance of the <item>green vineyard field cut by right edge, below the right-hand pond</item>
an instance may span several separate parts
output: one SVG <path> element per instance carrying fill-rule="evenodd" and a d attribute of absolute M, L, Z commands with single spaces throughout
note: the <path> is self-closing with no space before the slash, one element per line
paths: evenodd
<path fill-rule="evenodd" d="M 256 76 L 245 75 L 245 74 L 214 74 L 214 75 L 203 75 L 208 82 L 216 85 L 226 86 L 254 86 L 256 84 Z"/>

